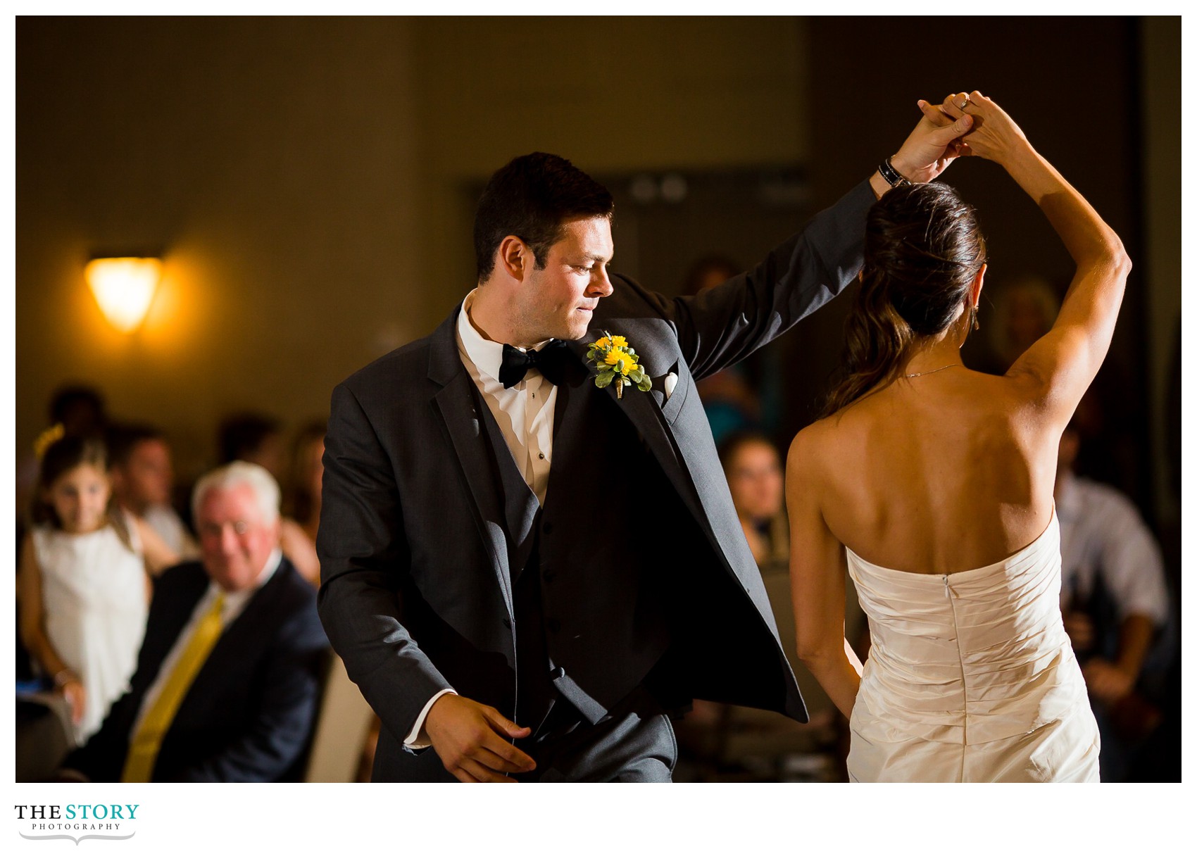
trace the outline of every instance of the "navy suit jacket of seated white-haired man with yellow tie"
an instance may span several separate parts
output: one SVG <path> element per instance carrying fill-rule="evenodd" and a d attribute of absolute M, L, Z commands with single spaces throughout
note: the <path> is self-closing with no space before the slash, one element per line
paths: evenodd
<path fill-rule="evenodd" d="M 199 562 L 154 580 L 138 669 L 84 748 L 67 758 L 93 781 L 117 781 L 145 694 L 208 587 Z M 311 739 L 328 639 L 316 593 L 284 557 L 225 627 L 178 707 L 156 782 L 271 782 L 294 777 Z"/>

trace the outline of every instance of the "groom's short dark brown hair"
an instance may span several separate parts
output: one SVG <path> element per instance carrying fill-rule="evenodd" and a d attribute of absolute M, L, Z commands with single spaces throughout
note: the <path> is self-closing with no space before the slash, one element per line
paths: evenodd
<path fill-rule="evenodd" d="M 557 154 L 517 157 L 491 176 L 474 215 L 478 281 L 494 270 L 494 252 L 515 234 L 543 269 L 549 248 L 561 239 L 561 222 L 573 216 L 610 218 L 615 202 L 606 187 Z"/>

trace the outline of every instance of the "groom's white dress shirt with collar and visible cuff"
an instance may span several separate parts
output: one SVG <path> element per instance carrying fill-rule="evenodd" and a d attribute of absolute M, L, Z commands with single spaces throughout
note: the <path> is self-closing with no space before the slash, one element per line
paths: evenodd
<path fill-rule="evenodd" d="M 499 382 L 503 344 L 485 337 L 469 319 L 469 307 L 474 303 L 475 293 L 476 291 L 470 291 L 461 304 L 461 313 L 457 316 L 457 352 L 461 354 L 462 365 L 466 366 L 466 373 L 482 392 L 486 407 L 503 432 L 519 474 L 536 494 L 536 500 L 543 505 L 548 492 L 548 469 L 553 459 L 557 386 L 547 382 L 536 368 L 529 368 L 521 382 L 510 389 L 503 388 L 503 383 Z M 531 349 L 539 350 L 547 343 L 542 341 Z M 431 743 L 420 738 L 420 730 L 424 727 L 429 709 L 445 694 L 456 693 L 451 688 L 445 688 L 432 695 L 415 719 L 412 731 L 403 739 L 403 744 L 415 749 L 427 748 Z"/>

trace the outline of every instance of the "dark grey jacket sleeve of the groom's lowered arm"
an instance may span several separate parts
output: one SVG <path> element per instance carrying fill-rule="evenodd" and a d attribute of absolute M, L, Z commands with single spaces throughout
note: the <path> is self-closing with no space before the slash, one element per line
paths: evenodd
<path fill-rule="evenodd" d="M 316 549 L 320 618 L 350 678 L 403 740 L 451 688 L 401 622 L 411 553 L 391 462 L 353 391 L 333 391 Z"/>

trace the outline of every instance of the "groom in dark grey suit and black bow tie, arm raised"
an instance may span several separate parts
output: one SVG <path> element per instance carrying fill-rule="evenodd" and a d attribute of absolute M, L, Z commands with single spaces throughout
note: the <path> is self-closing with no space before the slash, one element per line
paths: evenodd
<path fill-rule="evenodd" d="M 852 280 L 873 201 L 968 129 L 938 124 L 675 299 L 608 272 L 610 194 L 567 160 L 494 173 L 478 287 L 333 392 L 320 614 L 382 719 L 373 780 L 667 782 L 694 697 L 807 720 L 694 383 Z M 607 333 L 651 388 L 597 388 Z"/>

